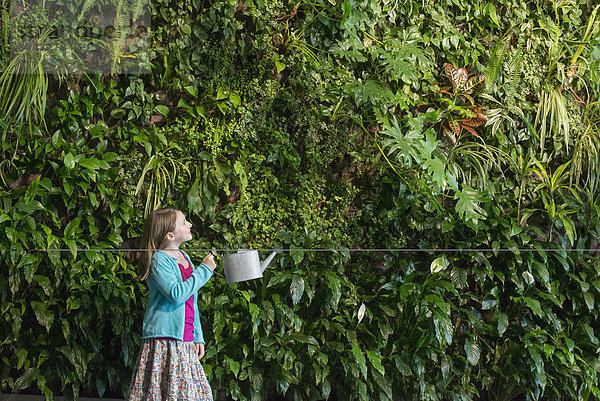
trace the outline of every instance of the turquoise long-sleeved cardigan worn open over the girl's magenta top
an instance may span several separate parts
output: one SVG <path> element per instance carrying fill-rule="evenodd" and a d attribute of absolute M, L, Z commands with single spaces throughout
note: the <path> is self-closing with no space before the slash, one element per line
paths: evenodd
<path fill-rule="evenodd" d="M 198 312 L 198 290 L 213 276 L 204 263 L 194 267 L 183 252 L 194 272 L 186 281 L 181 277 L 177 259 L 157 251 L 152 256 L 152 272 L 148 277 L 150 297 L 144 315 L 142 338 L 171 337 L 183 341 L 185 301 L 194 296 L 194 342 L 203 343 L 204 334 Z"/>

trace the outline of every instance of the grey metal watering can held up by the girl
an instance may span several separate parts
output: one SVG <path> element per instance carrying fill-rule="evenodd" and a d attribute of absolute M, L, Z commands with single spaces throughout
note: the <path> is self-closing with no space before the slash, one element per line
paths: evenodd
<path fill-rule="evenodd" d="M 271 252 L 262 262 L 256 250 L 242 249 L 237 253 L 220 255 L 223 260 L 223 272 L 225 273 L 227 284 L 261 278 L 269 263 L 271 263 L 275 255 L 279 252 L 281 251 L 275 250 Z"/>

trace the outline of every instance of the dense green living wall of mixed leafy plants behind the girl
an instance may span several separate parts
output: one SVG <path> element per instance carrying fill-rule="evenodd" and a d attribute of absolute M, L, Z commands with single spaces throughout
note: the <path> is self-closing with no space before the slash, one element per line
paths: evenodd
<path fill-rule="evenodd" d="M 130 74 L 15 58 L 9 6 L 2 391 L 126 391 L 147 292 L 103 249 L 175 205 L 189 249 L 286 249 L 201 291 L 215 394 L 600 397 L 594 2 L 154 0 Z"/>

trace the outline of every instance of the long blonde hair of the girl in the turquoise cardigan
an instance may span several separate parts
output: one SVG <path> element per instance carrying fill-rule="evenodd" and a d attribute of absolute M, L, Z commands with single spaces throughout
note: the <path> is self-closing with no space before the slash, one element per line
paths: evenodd
<path fill-rule="evenodd" d="M 177 212 L 178 210 L 173 208 L 157 209 L 146 218 L 140 244 L 142 249 L 139 259 L 140 280 L 146 280 L 150 276 L 152 255 L 158 249 L 164 248 L 167 234 L 175 230 Z"/>

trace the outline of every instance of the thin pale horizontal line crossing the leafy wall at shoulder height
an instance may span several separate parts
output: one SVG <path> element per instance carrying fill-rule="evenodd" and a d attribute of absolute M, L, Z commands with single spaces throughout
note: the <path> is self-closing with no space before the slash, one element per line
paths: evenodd
<path fill-rule="evenodd" d="M 163 250 L 179 250 L 179 249 L 163 249 Z M 204 249 L 204 248 L 192 248 L 192 249 L 181 249 L 185 252 L 238 252 L 248 251 L 249 249 Z M 598 252 L 598 248 L 284 248 L 284 249 L 254 249 L 260 252 Z M 4 250 L 11 251 L 11 250 Z M 82 249 L 68 249 L 68 248 L 41 248 L 41 249 L 29 249 L 29 250 L 17 250 L 12 251 L 28 251 L 28 252 L 143 252 L 147 249 L 139 248 L 82 248 Z"/>

